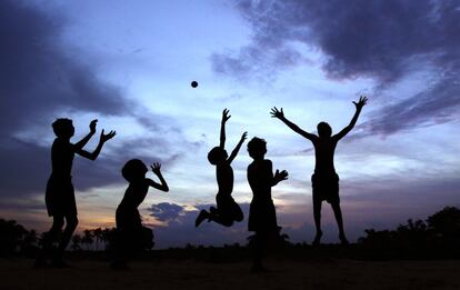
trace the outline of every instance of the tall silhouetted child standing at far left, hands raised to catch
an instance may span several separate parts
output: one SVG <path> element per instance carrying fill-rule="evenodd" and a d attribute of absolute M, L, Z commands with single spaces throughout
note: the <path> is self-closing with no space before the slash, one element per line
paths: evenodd
<path fill-rule="evenodd" d="M 62 254 L 72 237 L 78 224 L 76 196 L 72 186 L 72 162 L 74 153 L 78 153 L 90 160 L 96 160 L 106 141 L 116 136 L 114 131 L 104 134 L 101 132 L 99 143 L 92 153 L 84 151 L 82 148 L 88 143 L 96 133 L 98 120 L 90 123 L 90 132 L 79 142 L 72 144 L 70 138 L 74 133 L 72 120 L 57 119 L 52 123 L 52 129 L 57 138 L 51 148 L 51 177 L 48 180 L 46 203 L 48 216 L 53 218 L 51 229 L 44 233 L 42 240 L 42 250 L 40 251 L 36 267 L 44 267 L 51 256 L 52 243 L 59 242 L 58 249 L 52 254 L 51 264 L 53 267 L 69 267 L 63 260 Z M 66 221 L 66 229 L 61 234 Z"/>

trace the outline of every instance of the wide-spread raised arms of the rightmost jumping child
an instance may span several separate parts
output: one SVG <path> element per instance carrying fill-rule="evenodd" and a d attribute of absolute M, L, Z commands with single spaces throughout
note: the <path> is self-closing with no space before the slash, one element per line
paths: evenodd
<path fill-rule="evenodd" d="M 357 123 L 358 117 L 359 117 L 359 114 L 360 114 L 360 112 L 361 112 L 361 109 L 362 109 L 362 107 L 364 107 L 364 104 L 366 104 L 367 102 L 368 102 L 368 98 L 366 98 L 364 96 L 361 96 L 361 97 L 359 98 L 359 101 L 358 101 L 358 102 L 353 101 L 354 107 L 357 108 L 357 111 L 354 112 L 353 118 L 351 119 L 350 123 L 349 123 L 346 128 L 343 128 L 343 129 L 342 129 L 339 133 L 337 133 L 337 134 L 336 134 L 336 136 L 333 136 L 332 138 L 334 138 L 334 139 L 337 139 L 337 140 L 340 140 L 340 139 L 342 139 L 346 134 L 348 134 L 348 132 L 350 132 L 350 131 L 351 131 L 351 129 L 353 129 L 354 124 Z M 278 110 L 278 108 L 277 108 L 277 107 L 273 107 L 273 108 L 271 109 L 270 114 L 271 114 L 271 117 L 272 117 L 272 118 L 278 118 L 278 119 L 280 119 L 280 120 L 281 120 L 281 121 L 283 121 L 283 122 L 284 122 L 284 123 L 286 123 L 289 128 L 291 128 L 294 132 L 297 132 L 297 133 L 301 134 L 302 137 L 304 137 L 304 138 L 307 138 L 307 139 L 309 139 L 309 140 L 311 140 L 311 141 L 313 141 L 313 140 L 316 140 L 316 139 L 318 138 L 316 134 L 312 134 L 312 133 L 306 132 L 306 131 L 303 131 L 302 129 L 300 129 L 297 124 L 294 124 L 294 123 L 292 123 L 291 121 L 289 121 L 289 120 L 284 117 L 284 112 L 282 111 L 282 108 L 281 108 L 281 110 Z"/>

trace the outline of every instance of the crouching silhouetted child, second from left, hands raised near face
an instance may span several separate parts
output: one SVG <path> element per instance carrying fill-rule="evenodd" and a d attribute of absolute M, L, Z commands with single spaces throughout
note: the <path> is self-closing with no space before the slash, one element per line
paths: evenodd
<path fill-rule="evenodd" d="M 111 267 L 117 270 L 128 269 L 128 259 L 137 250 L 153 247 L 152 230 L 141 223 L 138 207 L 146 199 L 149 187 L 168 192 L 168 184 L 161 174 L 161 164 L 151 166 L 153 173 L 160 179 L 160 183 L 146 178 L 148 169 L 139 159 L 129 160 L 121 169 L 121 174 L 129 182 L 124 197 L 117 208 L 117 238 L 116 258 Z"/>

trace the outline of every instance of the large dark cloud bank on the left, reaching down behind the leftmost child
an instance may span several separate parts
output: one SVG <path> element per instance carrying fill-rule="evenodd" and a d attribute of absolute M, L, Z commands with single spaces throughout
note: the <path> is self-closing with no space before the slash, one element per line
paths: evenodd
<path fill-rule="evenodd" d="M 161 161 L 168 166 L 182 153 L 179 148 L 189 144 L 173 120 L 152 114 L 139 103 L 127 100 L 120 88 L 98 79 L 97 63 L 71 53 L 61 41 L 66 24 L 64 14 L 59 11 L 49 14 L 30 2 L 0 1 L 2 198 L 44 191 L 50 173 L 51 143 L 43 148 L 42 140 L 24 141 L 18 138 L 18 132 L 51 133 L 50 123 L 54 116 L 63 112 L 77 117 L 91 113 L 100 119 L 104 116 L 127 117 L 149 132 L 141 138 L 127 139 L 119 131 L 106 146 L 111 150 L 104 148 L 96 163 L 77 157 L 73 181 L 78 190 L 124 182 L 120 169 L 131 158 L 144 162 Z M 79 132 L 81 128 L 76 130 Z M 168 136 L 168 139 L 152 136 Z M 190 144 L 189 149 L 196 146 L 199 144 Z M 91 146 L 86 149 L 92 151 Z"/>

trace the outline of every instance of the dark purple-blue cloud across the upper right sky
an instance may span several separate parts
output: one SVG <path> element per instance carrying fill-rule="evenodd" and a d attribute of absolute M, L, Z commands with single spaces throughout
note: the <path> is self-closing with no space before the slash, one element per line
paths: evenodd
<path fill-rule="evenodd" d="M 324 53 L 328 77 L 373 78 L 380 89 L 431 68 L 433 84 L 416 96 L 396 96 L 404 100 L 377 112 L 368 123 L 372 133 L 446 122 L 459 112 L 458 1 L 241 0 L 237 8 L 252 27 L 252 41 L 240 52 L 212 56 L 217 72 L 248 77 L 298 64 L 292 43 L 301 43 Z M 273 62 L 273 56 L 284 61 Z"/>

